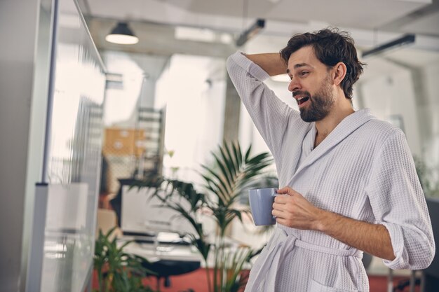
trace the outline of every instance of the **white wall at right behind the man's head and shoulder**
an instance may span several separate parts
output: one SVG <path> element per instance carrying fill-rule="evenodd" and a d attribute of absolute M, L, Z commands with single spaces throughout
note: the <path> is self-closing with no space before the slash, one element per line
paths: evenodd
<path fill-rule="evenodd" d="M 365 81 L 360 87 L 364 106 L 384 120 L 395 114 L 403 117 L 410 150 L 426 165 L 424 179 L 437 188 L 439 54 L 407 49 L 367 62 Z"/>

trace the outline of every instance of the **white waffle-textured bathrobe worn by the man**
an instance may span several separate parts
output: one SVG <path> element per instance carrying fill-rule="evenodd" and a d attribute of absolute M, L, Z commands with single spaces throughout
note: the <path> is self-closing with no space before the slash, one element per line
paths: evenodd
<path fill-rule="evenodd" d="M 433 232 L 412 155 L 401 130 L 356 111 L 313 149 L 316 127 L 305 123 L 263 81 L 243 53 L 227 60 L 242 102 L 269 146 L 279 186 L 316 207 L 389 230 L 392 269 L 422 269 L 435 253 Z M 369 291 L 363 252 L 323 232 L 276 225 L 257 258 L 245 292 Z"/>

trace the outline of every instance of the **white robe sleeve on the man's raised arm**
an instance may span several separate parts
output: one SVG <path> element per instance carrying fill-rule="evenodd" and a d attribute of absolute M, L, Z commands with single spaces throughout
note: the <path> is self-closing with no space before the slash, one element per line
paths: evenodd
<path fill-rule="evenodd" d="M 253 123 L 276 158 L 288 125 L 301 120 L 299 113 L 276 97 L 263 82 L 269 74 L 243 53 L 236 52 L 228 58 L 227 71 Z"/>

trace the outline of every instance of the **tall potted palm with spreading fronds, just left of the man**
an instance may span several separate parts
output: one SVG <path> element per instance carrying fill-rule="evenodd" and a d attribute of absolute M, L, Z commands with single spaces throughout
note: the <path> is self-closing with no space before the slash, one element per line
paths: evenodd
<path fill-rule="evenodd" d="M 191 224 L 194 232 L 188 236 L 207 267 L 209 292 L 240 291 L 246 284 L 246 277 L 241 273 L 243 267 L 256 253 L 248 246 L 228 245 L 225 240 L 227 228 L 235 220 L 242 222 L 243 213 L 249 212 L 248 208 L 236 208 L 241 195 L 262 180 L 273 178 L 265 172 L 272 158 L 266 152 L 252 155 L 251 146 L 243 152 L 238 143 L 224 143 L 212 152 L 212 158 L 214 165 L 201 165 L 201 191 L 193 183 L 166 178 L 144 181 L 136 186 L 154 186 L 160 190 L 155 195 L 163 207 L 173 209 Z M 177 200 L 172 200 L 173 197 Z M 206 213 L 217 228 L 213 240 L 206 234 L 200 218 L 200 214 Z M 209 258 L 213 267 L 209 267 Z"/>

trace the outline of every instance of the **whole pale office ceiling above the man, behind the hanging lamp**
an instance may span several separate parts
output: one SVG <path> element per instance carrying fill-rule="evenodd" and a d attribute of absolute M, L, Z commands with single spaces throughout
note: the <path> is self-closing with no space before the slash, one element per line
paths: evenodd
<path fill-rule="evenodd" d="M 439 51 L 439 0 L 78 0 L 98 48 L 133 53 L 228 55 L 233 39 L 257 18 L 266 20 L 262 36 L 285 39 L 297 32 L 340 27 L 357 46 L 371 48 L 401 34 L 417 34 L 417 46 Z M 117 46 L 104 36 L 117 21 L 128 21 L 140 43 Z M 176 27 L 209 29 L 210 41 L 182 40 Z M 224 41 L 229 34 L 232 41 Z M 419 37 L 418 37 L 419 36 Z M 225 38 L 227 39 L 227 38 Z M 151 41 L 154 40 L 154 41 Z M 279 47 L 281 48 L 281 47 Z M 205 53 L 204 53 L 205 52 Z"/>

